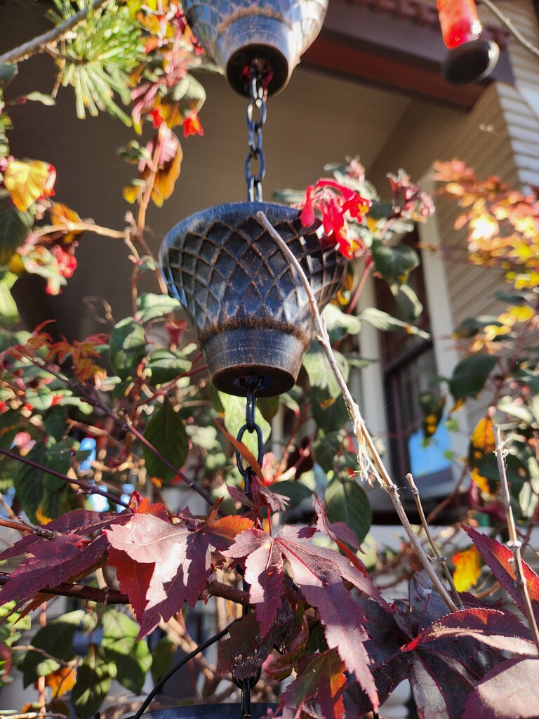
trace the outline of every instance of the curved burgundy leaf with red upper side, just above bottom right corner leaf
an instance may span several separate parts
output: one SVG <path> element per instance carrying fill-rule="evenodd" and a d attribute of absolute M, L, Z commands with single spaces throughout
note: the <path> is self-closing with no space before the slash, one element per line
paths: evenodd
<path fill-rule="evenodd" d="M 484 644 L 512 654 L 537 656 L 528 627 L 510 612 L 497 609 L 465 609 L 433 622 L 415 637 L 403 651 L 446 637 L 471 637 Z"/>

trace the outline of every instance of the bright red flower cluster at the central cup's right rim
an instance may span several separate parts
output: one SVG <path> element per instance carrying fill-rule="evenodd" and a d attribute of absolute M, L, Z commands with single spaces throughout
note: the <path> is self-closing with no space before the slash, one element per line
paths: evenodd
<path fill-rule="evenodd" d="M 312 225 L 315 210 L 318 210 L 322 216 L 324 232 L 328 237 L 334 237 L 341 255 L 353 257 L 354 252 L 363 244 L 352 237 L 346 214 L 361 222 L 370 206 L 369 200 L 354 190 L 339 185 L 335 180 L 318 180 L 315 185 L 310 185 L 305 190 L 301 221 L 305 227 Z"/>

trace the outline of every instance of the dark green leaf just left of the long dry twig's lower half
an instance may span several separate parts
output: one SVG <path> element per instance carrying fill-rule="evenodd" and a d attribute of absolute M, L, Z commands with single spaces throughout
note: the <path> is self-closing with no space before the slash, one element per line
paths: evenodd
<path fill-rule="evenodd" d="M 362 487 L 350 477 L 337 476 L 329 482 L 324 500 L 329 521 L 344 522 L 361 544 L 372 522 L 371 505 Z"/>

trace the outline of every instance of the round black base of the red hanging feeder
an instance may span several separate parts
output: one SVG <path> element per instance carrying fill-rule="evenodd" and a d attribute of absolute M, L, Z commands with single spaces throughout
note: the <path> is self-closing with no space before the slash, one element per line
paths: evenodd
<path fill-rule="evenodd" d="M 498 58 L 499 47 L 495 42 L 463 42 L 448 52 L 442 65 L 442 75 L 452 85 L 479 83 L 492 73 Z"/>

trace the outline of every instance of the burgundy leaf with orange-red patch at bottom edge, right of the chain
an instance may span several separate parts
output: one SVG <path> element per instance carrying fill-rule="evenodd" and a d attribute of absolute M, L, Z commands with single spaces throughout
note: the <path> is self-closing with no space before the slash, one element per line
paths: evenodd
<path fill-rule="evenodd" d="M 343 687 L 346 684 L 344 664 L 336 651 L 325 651 L 304 662 L 298 677 L 282 695 L 282 719 L 295 719 L 302 711 L 311 713 L 309 703 L 317 702 L 320 710 L 313 715 L 324 719 L 341 719 L 344 715 Z"/>

